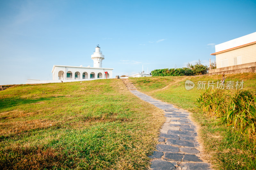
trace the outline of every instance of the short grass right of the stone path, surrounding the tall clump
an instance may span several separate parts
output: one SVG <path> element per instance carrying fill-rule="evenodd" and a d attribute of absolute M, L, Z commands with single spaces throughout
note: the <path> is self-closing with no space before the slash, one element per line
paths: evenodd
<path fill-rule="evenodd" d="M 227 81 L 244 80 L 244 89 L 256 89 L 256 73 L 228 74 Z M 158 77 L 149 77 L 150 79 Z M 172 77 L 162 77 L 169 80 Z M 176 83 L 170 83 L 165 89 L 159 87 L 148 88 L 148 84 L 137 83 L 140 78 L 133 79 L 134 85 L 142 92 L 152 97 L 174 104 L 179 108 L 187 109 L 192 112 L 194 120 L 201 125 L 200 138 L 203 139 L 205 158 L 215 165 L 215 169 L 256 169 L 255 147 L 253 148 L 248 141 L 240 133 L 239 129 L 221 124 L 216 117 L 204 114 L 196 108 L 196 99 L 204 92 L 203 89 L 196 89 L 198 81 L 220 81 L 221 75 L 212 76 L 188 76 L 184 77 Z M 195 83 L 195 87 L 191 90 L 185 89 L 185 81 L 191 80 Z M 164 82 L 164 80 L 162 80 Z M 174 82 L 174 81 L 173 81 Z M 156 82 L 157 83 L 157 82 Z M 162 83 L 159 83 L 159 86 Z M 168 85 L 168 83 L 166 83 Z M 216 86 L 215 86 L 216 87 Z M 161 87 L 162 88 L 162 87 Z M 206 85 L 207 88 L 207 85 Z M 207 156 L 208 155 L 208 156 Z"/>

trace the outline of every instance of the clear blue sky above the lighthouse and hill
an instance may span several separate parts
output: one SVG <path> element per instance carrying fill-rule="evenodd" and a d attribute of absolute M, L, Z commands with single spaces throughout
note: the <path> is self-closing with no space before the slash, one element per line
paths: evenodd
<path fill-rule="evenodd" d="M 208 64 L 214 45 L 256 32 L 256 1 L 0 0 L 0 85 L 51 80 L 56 65 L 113 76 Z"/>

